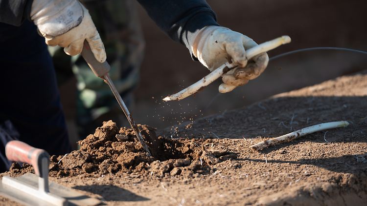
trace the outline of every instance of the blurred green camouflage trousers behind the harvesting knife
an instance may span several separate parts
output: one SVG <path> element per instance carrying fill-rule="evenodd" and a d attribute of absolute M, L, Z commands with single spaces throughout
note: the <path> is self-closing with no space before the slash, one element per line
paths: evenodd
<path fill-rule="evenodd" d="M 110 76 L 128 107 L 133 104 L 132 90 L 138 84 L 139 67 L 143 58 L 144 41 L 138 21 L 135 0 L 82 0 L 105 45 Z M 62 82 L 65 76 L 77 80 L 76 117 L 79 128 L 87 129 L 102 124 L 102 120 L 124 119 L 110 88 L 92 73 L 88 64 L 78 56 L 66 55 L 60 47 L 49 47 L 49 52 Z M 72 71 L 72 73 L 71 73 Z M 69 75 L 68 75 L 69 74 Z M 102 119 L 102 120 L 100 120 Z M 96 121 L 98 120 L 98 121 Z M 95 122 L 95 124 L 93 124 Z M 88 131 L 80 135 L 88 134 Z"/>

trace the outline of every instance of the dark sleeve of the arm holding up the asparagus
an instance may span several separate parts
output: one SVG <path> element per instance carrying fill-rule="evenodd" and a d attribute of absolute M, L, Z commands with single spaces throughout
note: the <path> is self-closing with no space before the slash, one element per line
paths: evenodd
<path fill-rule="evenodd" d="M 192 55 L 193 36 L 208 25 L 219 25 L 205 0 L 138 0 L 150 18 L 174 41 L 184 44 Z M 193 57 L 193 59 L 196 59 Z"/>

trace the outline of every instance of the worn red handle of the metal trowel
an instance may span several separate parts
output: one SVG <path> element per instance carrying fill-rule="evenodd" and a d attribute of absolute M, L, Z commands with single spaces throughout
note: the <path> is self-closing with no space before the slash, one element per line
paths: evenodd
<path fill-rule="evenodd" d="M 34 172 L 40 177 L 42 177 L 40 174 L 42 158 L 46 157 L 47 160 L 49 160 L 49 155 L 45 150 L 32 147 L 26 143 L 16 140 L 10 141 L 6 144 L 5 155 L 10 161 L 32 165 Z"/>

